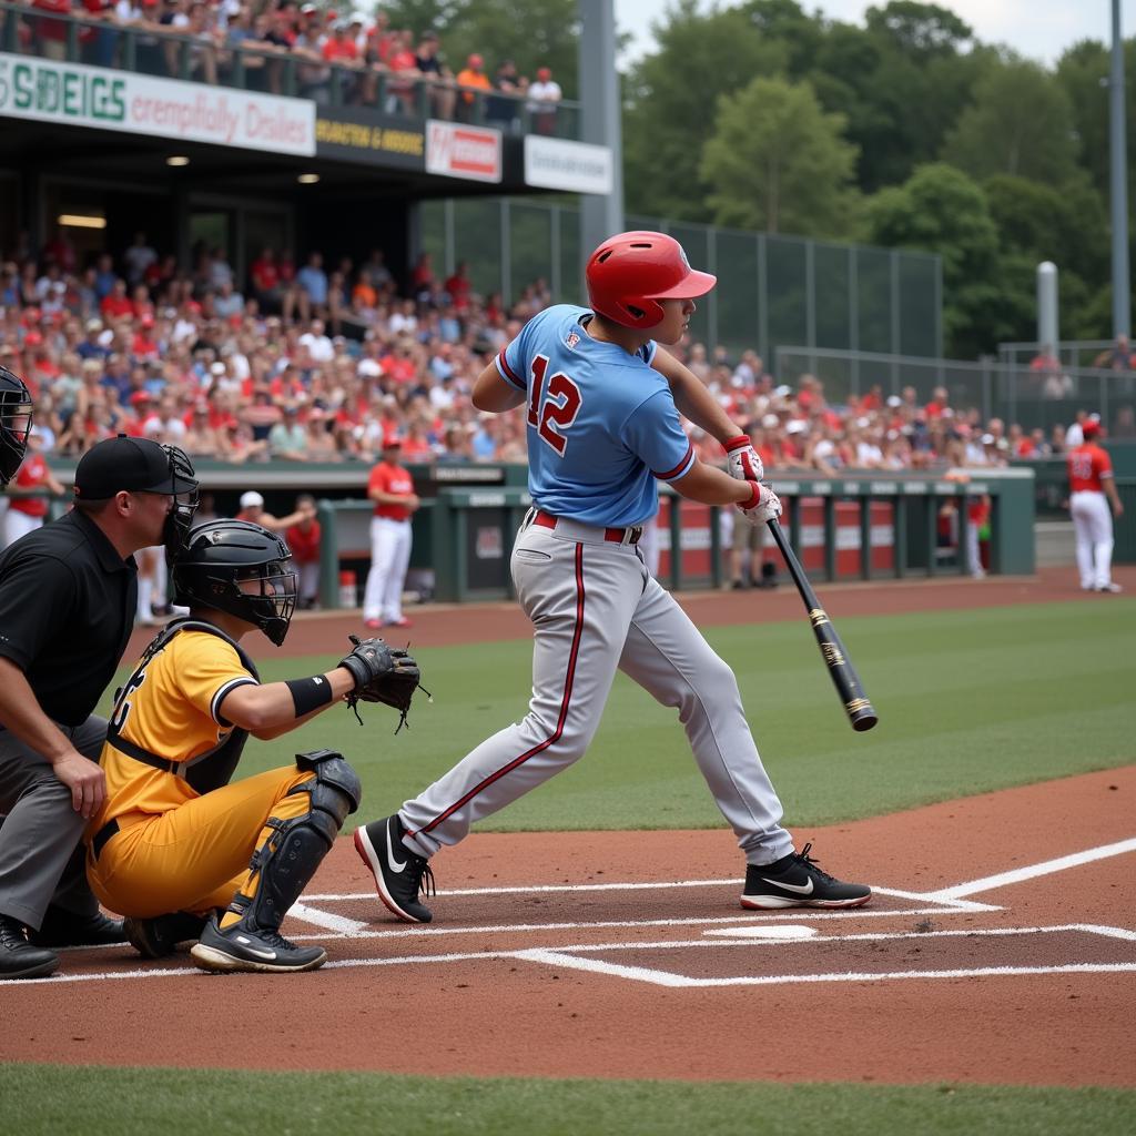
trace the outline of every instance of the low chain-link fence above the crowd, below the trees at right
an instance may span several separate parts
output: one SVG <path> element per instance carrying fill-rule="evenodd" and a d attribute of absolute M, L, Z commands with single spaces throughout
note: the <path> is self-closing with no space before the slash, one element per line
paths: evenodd
<path fill-rule="evenodd" d="M 821 348 L 779 348 L 774 374 L 791 386 L 803 374 L 825 384 L 832 403 L 859 398 L 879 385 L 885 395 L 912 386 L 926 402 L 936 386 L 946 387 L 955 410 L 977 408 L 984 420 L 1002 418 L 1024 429 L 1068 426 L 1078 410 L 1099 414 L 1114 436 L 1136 434 L 1136 371 L 1062 368 L 1054 374 L 993 361 L 925 359 Z"/>

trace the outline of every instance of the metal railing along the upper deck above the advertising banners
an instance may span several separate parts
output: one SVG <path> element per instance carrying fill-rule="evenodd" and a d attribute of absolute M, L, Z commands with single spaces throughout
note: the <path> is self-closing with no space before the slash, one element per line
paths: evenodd
<path fill-rule="evenodd" d="M 52 24 L 62 28 L 61 39 L 40 34 L 42 25 Z M 370 108 L 408 119 L 454 117 L 507 134 L 578 139 L 580 132 L 580 106 L 568 99 L 557 103 L 554 111 L 541 112 L 526 95 L 458 86 L 453 80 L 399 75 L 376 64 L 331 62 L 314 51 L 272 44 L 243 47 L 206 40 L 159 24 L 123 25 L 47 12 L 9 0 L 0 0 L 0 51 L 310 99 L 328 107 Z"/>

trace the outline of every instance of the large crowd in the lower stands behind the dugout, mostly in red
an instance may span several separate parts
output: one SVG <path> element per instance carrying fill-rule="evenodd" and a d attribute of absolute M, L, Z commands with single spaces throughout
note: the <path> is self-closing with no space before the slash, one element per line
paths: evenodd
<path fill-rule="evenodd" d="M 524 416 L 482 415 L 471 385 L 494 354 L 551 302 L 543 281 L 512 303 L 482 296 L 458 265 L 440 278 L 424 253 L 400 289 L 379 250 L 328 272 L 319 252 L 296 267 L 265 249 L 248 281 L 199 248 L 191 266 L 144 233 L 86 267 L 60 229 L 0 260 L 0 364 L 36 402 L 37 446 L 76 458 L 124 432 L 227 462 L 370 462 L 385 438 L 402 460 L 524 461 Z M 879 384 L 830 403 L 802 375 L 778 382 L 757 352 L 698 342 L 676 348 L 778 470 L 947 469 L 1060 453 L 1064 431 L 1025 432 L 946 389 Z M 1076 424 L 1074 424 L 1074 429 Z M 700 456 L 720 446 L 694 429 Z"/>

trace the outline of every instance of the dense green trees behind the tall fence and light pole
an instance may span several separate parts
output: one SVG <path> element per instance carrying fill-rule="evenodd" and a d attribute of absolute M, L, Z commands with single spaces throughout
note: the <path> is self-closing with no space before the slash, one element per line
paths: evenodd
<path fill-rule="evenodd" d="M 576 0 L 384 7 L 451 56 L 550 66 L 577 95 Z M 862 26 L 796 0 L 673 0 L 652 31 L 624 75 L 628 212 L 937 252 L 952 356 L 1034 337 L 1042 260 L 1060 269 L 1062 335 L 1111 335 L 1106 44 L 1047 68 L 914 0 Z M 1136 74 L 1136 41 L 1125 56 Z M 1136 82 L 1126 99 L 1136 153 Z"/>

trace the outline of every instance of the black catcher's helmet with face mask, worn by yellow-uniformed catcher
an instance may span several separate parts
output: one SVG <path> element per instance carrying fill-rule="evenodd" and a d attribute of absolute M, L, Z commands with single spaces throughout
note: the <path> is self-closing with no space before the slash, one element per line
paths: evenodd
<path fill-rule="evenodd" d="M 249 582 L 257 588 L 247 591 Z M 277 646 L 284 642 L 295 611 L 295 573 L 289 546 L 275 533 L 248 520 L 194 525 L 174 561 L 174 587 L 176 602 L 227 611 L 254 624 Z"/>

